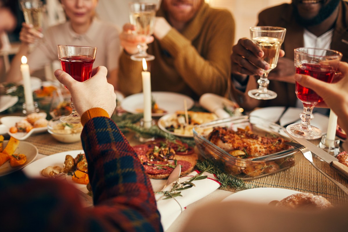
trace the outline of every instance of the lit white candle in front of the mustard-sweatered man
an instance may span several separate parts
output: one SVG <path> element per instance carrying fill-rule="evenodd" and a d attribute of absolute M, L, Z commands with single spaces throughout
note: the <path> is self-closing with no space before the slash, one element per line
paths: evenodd
<path fill-rule="evenodd" d="M 141 77 L 143 80 L 143 95 L 144 95 L 144 127 L 150 128 L 152 125 L 151 118 L 151 76 L 148 72 L 148 66 L 145 59 L 143 59 L 143 69 Z"/>

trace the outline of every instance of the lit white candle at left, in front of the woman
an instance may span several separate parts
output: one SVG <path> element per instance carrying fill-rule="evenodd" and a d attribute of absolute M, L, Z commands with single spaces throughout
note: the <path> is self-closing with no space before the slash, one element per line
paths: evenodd
<path fill-rule="evenodd" d="M 23 87 L 24 87 L 24 97 L 25 97 L 25 109 L 27 112 L 34 111 L 34 100 L 33 92 L 31 91 L 30 84 L 30 71 L 29 65 L 26 64 L 26 57 L 22 56 L 21 72 L 23 78 Z"/>

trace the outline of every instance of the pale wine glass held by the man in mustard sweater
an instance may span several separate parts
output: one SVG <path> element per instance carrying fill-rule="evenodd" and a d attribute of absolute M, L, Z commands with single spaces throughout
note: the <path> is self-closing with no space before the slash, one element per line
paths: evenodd
<path fill-rule="evenodd" d="M 138 35 L 151 36 L 153 34 L 153 25 L 155 24 L 156 4 L 152 3 L 130 3 L 129 4 L 130 23 L 135 26 L 135 33 Z M 146 50 L 148 45 L 141 43 L 137 45 L 139 53 L 130 56 L 134 61 L 146 61 L 155 59 L 155 56 L 149 55 Z"/>

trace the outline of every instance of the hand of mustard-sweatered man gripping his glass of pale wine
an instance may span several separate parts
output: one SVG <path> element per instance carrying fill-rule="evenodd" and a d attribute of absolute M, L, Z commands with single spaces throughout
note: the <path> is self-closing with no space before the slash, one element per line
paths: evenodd
<path fill-rule="evenodd" d="M 137 46 L 140 43 L 149 44 L 153 42 L 153 36 L 144 36 L 133 34 L 135 31 L 135 26 L 129 23 L 126 23 L 123 26 L 123 31 L 120 34 L 120 43 L 121 46 L 125 49 L 128 54 L 136 54 L 139 52 Z"/>

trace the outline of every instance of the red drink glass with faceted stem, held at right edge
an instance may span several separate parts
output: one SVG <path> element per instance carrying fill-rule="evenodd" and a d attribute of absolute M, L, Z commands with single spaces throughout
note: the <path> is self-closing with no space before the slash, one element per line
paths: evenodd
<path fill-rule="evenodd" d="M 320 48 L 296 48 L 295 49 L 295 68 L 296 74 L 304 74 L 331 83 L 336 75 L 342 53 L 320 49 Z M 310 125 L 310 120 L 314 118 L 312 111 L 317 103 L 323 99 L 310 88 L 295 83 L 295 93 L 303 103 L 303 112 L 300 114 L 301 123 L 291 124 L 286 127 L 287 132 L 293 136 L 304 139 L 317 139 L 322 136 L 322 132 L 315 126 Z"/>

